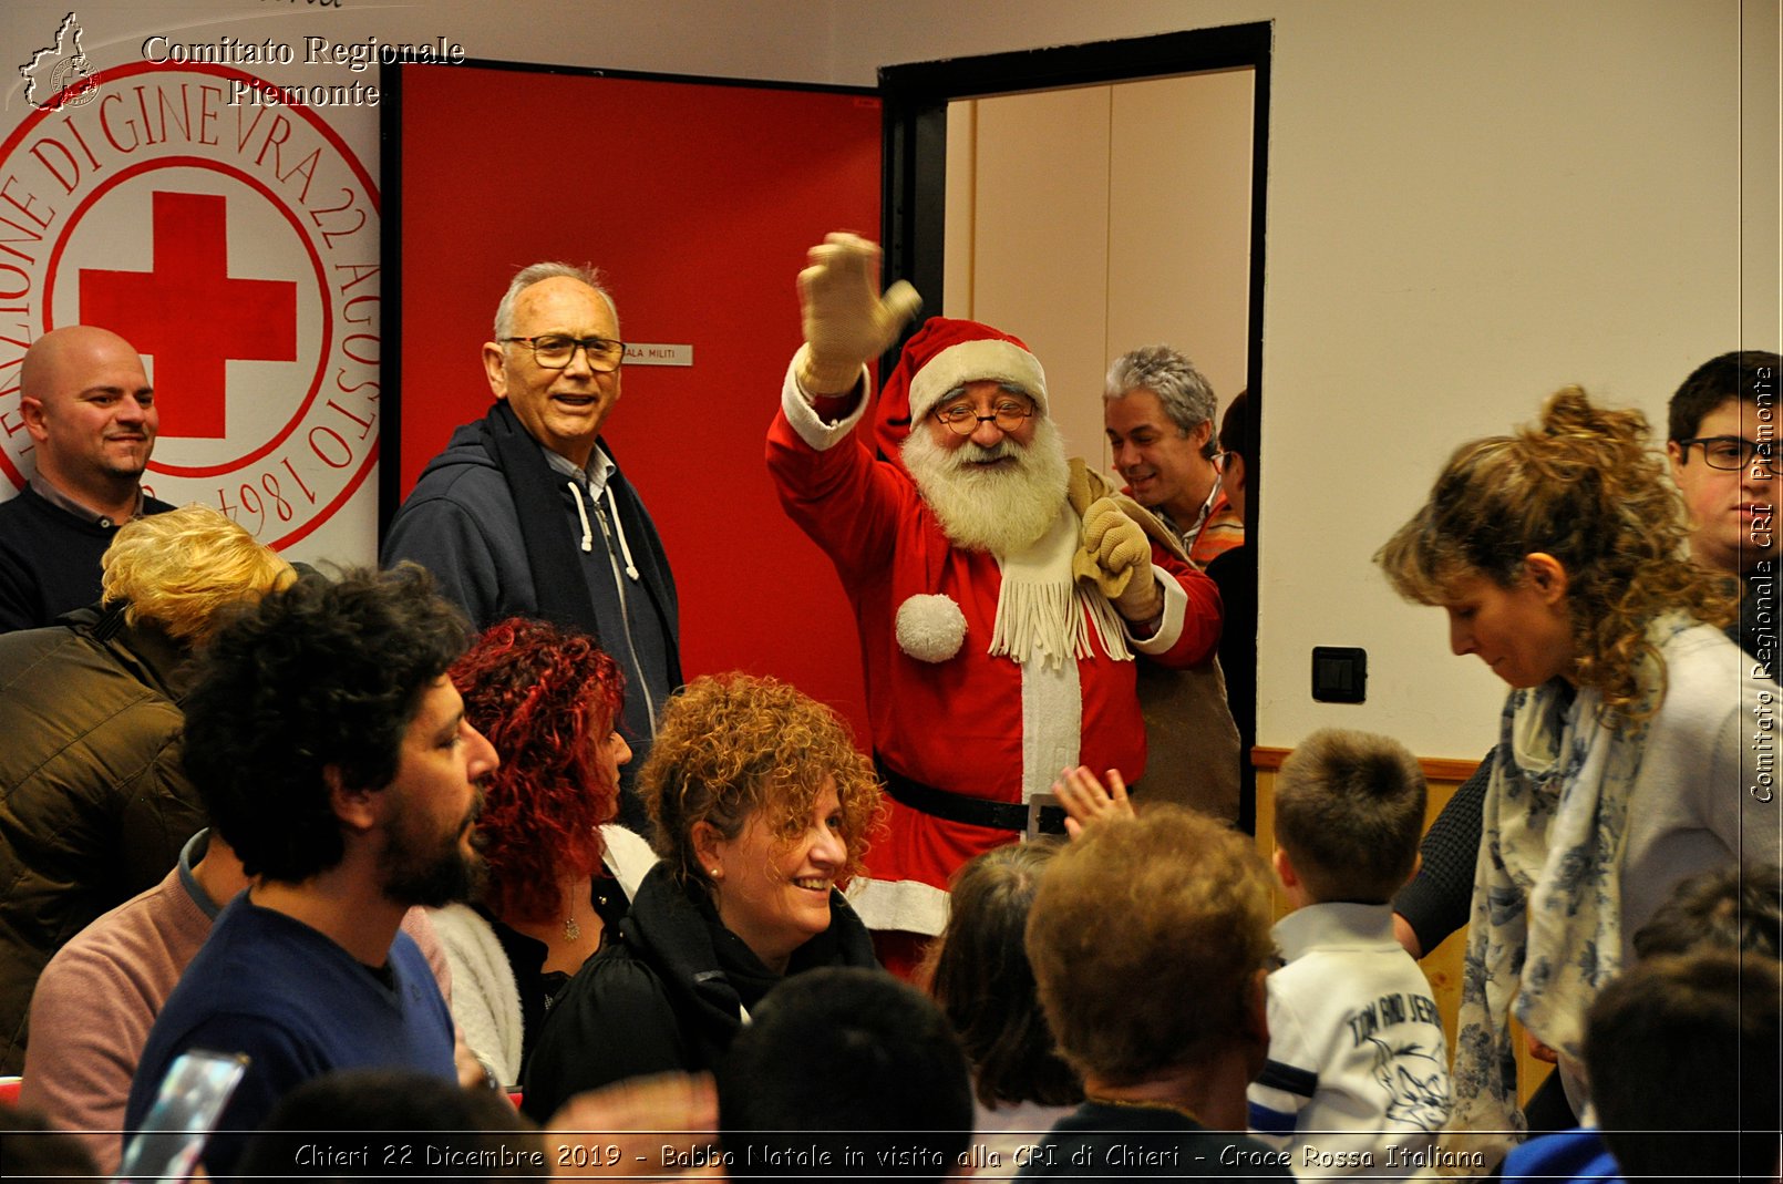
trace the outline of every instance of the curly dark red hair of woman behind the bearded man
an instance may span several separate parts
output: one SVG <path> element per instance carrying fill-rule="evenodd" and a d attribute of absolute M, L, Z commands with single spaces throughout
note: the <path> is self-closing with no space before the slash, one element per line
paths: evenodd
<path fill-rule="evenodd" d="M 599 872 L 599 827 L 619 810 L 596 751 L 619 719 L 624 674 L 592 637 L 514 617 L 476 638 L 451 681 L 501 756 L 478 822 L 483 904 L 510 924 L 562 917 L 560 877 Z"/>

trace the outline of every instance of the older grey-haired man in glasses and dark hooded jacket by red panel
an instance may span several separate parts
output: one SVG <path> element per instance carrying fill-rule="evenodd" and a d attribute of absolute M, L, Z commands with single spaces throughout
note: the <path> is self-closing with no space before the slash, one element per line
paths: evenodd
<path fill-rule="evenodd" d="M 681 685 L 674 572 L 637 490 L 601 440 L 619 403 L 619 314 L 601 276 L 533 264 L 496 308 L 483 374 L 496 396 L 428 462 L 383 540 L 478 629 L 508 617 L 579 628 L 626 672 L 620 822 L 645 829 L 631 790 L 656 710 Z"/>

